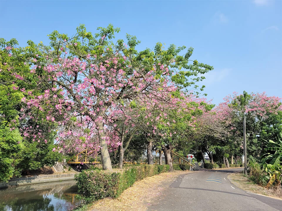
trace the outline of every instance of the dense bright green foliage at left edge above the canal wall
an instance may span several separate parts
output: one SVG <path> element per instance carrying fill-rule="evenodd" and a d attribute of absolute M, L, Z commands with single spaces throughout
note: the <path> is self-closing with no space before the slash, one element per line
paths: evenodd
<path fill-rule="evenodd" d="M 38 119 L 21 119 L 23 97 L 28 98 L 28 91 L 41 94 L 44 89 L 35 89 L 38 76 L 42 70 L 38 67 L 35 73 L 31 73 L 32 63 L 26 62 L 28 58 L 41 55 L 36 45 L 28 41 L 26 48 L 17 47 L 17 41 L 12 39 L 6 42 L 0 39 L 0 46 L 11 46 L 13 56 L 9 57 L 6 50 L 0 51 L 0 180 L 8 181 L 13 176 L 21 176 L 24 170 L 35 170 L 44 165 L 52 166 L 55 161 L 61 159 L 61 155 L 52 152 L 53 134 L 47 143 L 34 142 L 31 139 L 23 139 L 19 131 L 25 126 L 34 127 L 43 125 L 41 119 L 46 119 L 44 111 L 37 111 Z M 32 53 L 31 53 L 32 52 Z M 41 62 L 43 57 L 38 58 Z M 4 65 L 6 63 L 6 65 Z M 24 77 L 24 80 L 15 80 L 14 74 Z M 24 91 L 21 91 L 24 90 Z M 75 117 L 73 118 L 75 120 Z M 46 129 L 46 128 L 41 128 Z"/>

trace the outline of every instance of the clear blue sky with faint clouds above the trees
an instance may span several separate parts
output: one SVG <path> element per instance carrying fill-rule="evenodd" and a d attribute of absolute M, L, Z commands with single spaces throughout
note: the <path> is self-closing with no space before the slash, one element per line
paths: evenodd
<path fill-rule="evenodd" d="M 202 84 L 219 103 L 233 91 L 282 97 L 282 1 L 4 1 L 0 37 L 48 44 L 53 30 L 73 35 L 84 23 L 95 33 L 112 23 L 137 36 L 138 49 L 156 42 L 193 47 L 191 59 L 214 66 Z"/>

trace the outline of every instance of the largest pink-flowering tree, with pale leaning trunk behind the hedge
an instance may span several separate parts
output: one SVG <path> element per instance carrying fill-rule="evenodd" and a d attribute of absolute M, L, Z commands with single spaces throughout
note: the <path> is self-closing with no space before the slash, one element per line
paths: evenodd
<path fill-rule="evenodd" d="M 121 112 L 120 104 L 133 105 L 142 96 L 150 96 L 156 104 L 162 89 L 173 92 L 188 88 L 204 79 L 198 74 L 212 67 L 197 60 L 189 64 L 192 48 L 180 56 L 184 47 L 171 45 L 163 50 L 157 43 L 154 51 L 137 52 L 139 41 L 134 36 L 127 35 L 127 44 L 123 40 L 113 43 L 118 28 L 109 25 L 98 30 L 92 35 L 80 25 L 73 37 L 51 33 L 50 46 L 28 42 L 29 52 L 24 59 L 31 64 L 29 71 L 38 76 L 38 81 L 36 89 L 22 98 L 26 106 L 21 110 L 21 120 L 35 122 L 25 127 L 25 137 L 41 142 L 53 132 L 61 144 L 54 150 L 70 150 L 70 146 L 77 150 L 100 149 L 103 169 L 112 169 L 108 146 L 116 149 L 121 139 L 112 130 L 114 120 L 109 117 Z M 9 50 L 7 54 L 14 56 Z M 181 68 L 186 70 L 176 72 Z M 20 74 L 17 79 L 25 80 Z M 38 95 L 36 90 L 44 93 Z M 168 102 L 167 98 L 163 100 Z M 38 115 L 41 113 L 46 117 Z"/>

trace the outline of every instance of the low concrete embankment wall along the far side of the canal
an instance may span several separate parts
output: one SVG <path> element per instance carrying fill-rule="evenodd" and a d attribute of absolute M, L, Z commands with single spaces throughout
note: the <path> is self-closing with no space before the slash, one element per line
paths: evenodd
<path fill-rule="evenodd" d="M 74 180 L 74 175 L 75 173 L 12 178 L 7 183 L 5 182 L 0 183 L 0 189 L 8 188 L 11 186 L 24 186 L 24 185 L 31 185 L 31 184 L 38 184 L 38 183 Z"/>

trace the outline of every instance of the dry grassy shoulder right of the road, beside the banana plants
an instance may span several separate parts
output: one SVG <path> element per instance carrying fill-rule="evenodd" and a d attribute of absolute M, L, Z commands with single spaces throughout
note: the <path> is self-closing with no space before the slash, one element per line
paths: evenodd
<path fill-rule="evenodd" d="M 281 194 L 278 195 L 276 191 L 264 188 L 255 184 L 253 181 L 249 180 L 246 176 L 239 173 L 229 174 L 227 177 L 234 185 L 246 190 L 247 192 L 265 195 L 268 197 L 276 198 L 282 200 Z"/>

